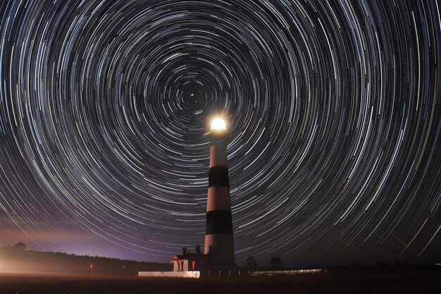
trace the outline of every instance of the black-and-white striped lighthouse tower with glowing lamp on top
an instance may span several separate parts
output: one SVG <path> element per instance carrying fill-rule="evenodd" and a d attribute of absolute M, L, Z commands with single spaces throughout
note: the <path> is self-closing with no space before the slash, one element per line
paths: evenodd
<path fill-rule="evenodd" d="M 235 265 L 235 250 L 227 161 L 230 135 L 222 118 L 211 122 L 209 135 L 211 148 L 204 253 L 209 256 L 212 267 L 228 268 Z"/>

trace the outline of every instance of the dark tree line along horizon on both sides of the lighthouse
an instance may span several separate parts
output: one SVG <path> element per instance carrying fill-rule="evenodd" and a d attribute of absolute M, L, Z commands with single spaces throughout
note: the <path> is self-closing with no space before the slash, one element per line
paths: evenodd
<path fill-rule="evenodd" d="M 20 243 L 18 243 L 20 244 Z M 192 252 L 190 250 L 190 252 Z M 347 270 L 417 270 L 417 269 L 441 269 L 441 263 L 433 262 L 408 262 L 403 260 L 392 260 L 392 259 L 379 259 L 375 262 L 351 262 L 347 263 L 312 263 L 312 264 L 287 264 L 281 260 L 281 264 L 277 266 L 271 264 L 271 260 L 256 260 L 254 259 L 255 268 L 249 268 L 247 266 L 247 260 L 242 264 L 236 264 L 237 269 L 251 269 L 251 270 L 275 270 L 275 269 L 347 269 Z M 57 271 L 60 274 L 68 273 L 74 274 L 72 269 L 75 269 L 77 274 L 87 274 L 97 272 L 100 269 L 105 274 L 111 274 L 108 269 L 113 269 L 119 264 L 124 264 L 128 262 L 132 264 L 132 268 L 135 268 L 134 264 L 137 264 L 139 271 L 171 271 L 173 264 L 169 262 L 151 262 L 146 260 L 136 260 L 136 259 L 124 259 L 118 257 L 109 256 L 99 256 L 99 255 L 75 255 L 69 252 L 51 252 L 51 251 L 39 251 L 32 250 L 31 248 L 20 248 L 18 245 L 7 245 L 0 246 L 0 274 L 15 273 L 18 274 L 23 272 L 24 274 L 56 274 Z M 78 267 L 80 265 L 81 267 Z M 85 263 L 84 263 L 85 262 Z M 44 267 L 41 267 L 44 264 Z M 89 268 L 92 264 L 94 268 Z M 103 267 L 101 268 L 101 265 Z M 12 269 L 10 269 L 12 267 Z M 99 268 L 98 268 L 99 267 Z M 142 269 L 144 267 L 144 269 Z M 146 269 L 147 267 L 147 269 Z M 63 269 L 63 271 L 60 271 Z M 106 271 L 107 269 L 107 271 Z M 119 269 L 117 270 L 119 271 Z M 116 274 L 115 269 L 113 269 L 113 274 Z M 123 274 L 123 271 L 120 272 Z M 130 272 L 126 274 L 136 274 L 135 272 Z"/>

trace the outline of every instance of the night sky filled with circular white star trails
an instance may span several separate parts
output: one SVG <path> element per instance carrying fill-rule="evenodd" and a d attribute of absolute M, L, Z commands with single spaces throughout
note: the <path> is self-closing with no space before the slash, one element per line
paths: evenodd
<path fill-rule="evenodd" d="M 0 245 L 237 264 L 441 260 L 441 16 L 422 1 L 1 1 Z"/>

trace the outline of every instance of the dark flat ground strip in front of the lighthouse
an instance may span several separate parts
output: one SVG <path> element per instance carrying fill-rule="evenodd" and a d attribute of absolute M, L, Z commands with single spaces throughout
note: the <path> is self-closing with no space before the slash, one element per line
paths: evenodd
<path fill-rule="evenodd" d="M 75 293 L 441 293 L 440 271 L 177 279 L 0 275 L 0 294 Z"/>

